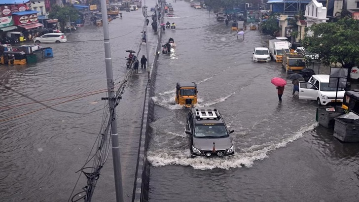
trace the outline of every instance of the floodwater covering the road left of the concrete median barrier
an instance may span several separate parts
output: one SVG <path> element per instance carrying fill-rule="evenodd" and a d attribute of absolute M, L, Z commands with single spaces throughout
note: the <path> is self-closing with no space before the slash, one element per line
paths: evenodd
<path fill-rule="evenodd" d="M 124 12 L 122 19 L 109 23 L 116 84 L 127 72 L 125 50 L 141 47 L 140 57 L 145 55 L 145 46 L 139 46 L 143 25 L 142 10 Z M 78 178 L 75 172 L 96 141 L 107 108 L 101 101 L 107 96 L 103 28 L 78 28 L 67 36 L 66 43 L 43 45 L 53 48 L 54 58 L 0 66 L 0 201 L 68 201 Z M 147 37 L 153 50 L 157 35 Z M 132 75 L 116 108 L 125 201 L 132 199 L 147 82 L 147 73 L 141 68 L 139 72 Z M 42 102 L 28 104 L 36 101 Z M 82 175 L 74 193 L 85 185 Z M 110 150 L 93 201 L 115 201 L 114 190 Z"/>

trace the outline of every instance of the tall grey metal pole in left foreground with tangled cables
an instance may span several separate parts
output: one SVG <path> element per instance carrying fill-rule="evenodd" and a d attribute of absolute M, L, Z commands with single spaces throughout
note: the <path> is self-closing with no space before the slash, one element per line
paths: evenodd
<path fill-rule="evenodd" d="M 119 148 L 118 134 L 117 134 L 116 109 L 115 109 L 115 100 L 114 100 L 115 90 L 113 83 L 112 59 L 111 59 L 111 49 L 110 49 L 111 47 L 109 43 L 106 0 L 101 0 L 101 12 L 102 12 L 102 26 L 104 28 L 108 105 L 109 105 L 109 111 L 113 113 L 112 123 L 111 123 L 111 140 L 112 140 L 111 143 L 112 143 L 113 172 L 114 172 L 114 181 L 115 181 L 115 190 L 116 190 L 116 202 L 123 202 L 120 148 Z"/>

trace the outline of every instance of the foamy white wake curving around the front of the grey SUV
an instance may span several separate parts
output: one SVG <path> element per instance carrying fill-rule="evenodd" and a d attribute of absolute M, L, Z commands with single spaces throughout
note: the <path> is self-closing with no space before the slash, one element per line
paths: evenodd
<path fill-rule="evenodd" d="M 256 160 L 263 160 L 264 158 L 267 158 L 270 152 L 285 147 L 288 143 L 302 137 L 305 132 L 313 130 L 316 126 L 318 126 L 317 123 L 304 126 L 293 134 L 284 134 L 284 136 L 287 136 L 284 139 L 267 142 L 265 144 L 252 145 L 247 148 L 238 148 L 240 145 L 239 142 L 234 142 L 234 145 L 237 145 L 236 154 L 235 156 L 229 158 L 191 159 L 189 157 L 190 153 L 185 136 L 176 133 L 167 133 L 166 135 L 169 139 L 166 140 L 165 143 L 171 144 L 171 142 L 175 142 L 174 148 L 168 148 L 166 146 L 161 147 L 164 145 L 157 145 L 156 148 L 150 148 L 150 150 L 147 152 L 147 159 L 151 165 L 155 167 L 181 165 L 191 166 L 195 169 L 202 170 L 214 168 L 251 168 Z M 162 138 L 161 141 L 163 141 Z"/>

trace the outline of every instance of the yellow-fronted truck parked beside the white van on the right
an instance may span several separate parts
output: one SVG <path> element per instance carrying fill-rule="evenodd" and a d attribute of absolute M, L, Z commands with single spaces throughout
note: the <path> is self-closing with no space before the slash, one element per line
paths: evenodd
<path fill-rule="evenodd" d="M 301 53 L 290 53 L 284 51 L 282 58 L 282 67 L 287 73 L 293 73 L 295 71 L 301 71 L 305 66 L 305 56 Z"/>

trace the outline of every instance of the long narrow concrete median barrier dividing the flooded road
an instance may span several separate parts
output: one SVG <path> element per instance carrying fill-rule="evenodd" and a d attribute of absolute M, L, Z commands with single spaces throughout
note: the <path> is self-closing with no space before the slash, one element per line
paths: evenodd
<path fill-rule="evenodd" d="M 161 6 L 163 9 L 163 6 Z M 163 13 L 163 10 L 161 10 Z M 160 23 L 163 22 L 163 16 L 159 20 Z M 159 24 L 160 24 L 159 23 Z M 138 159 L 136 166 L 135 174 L 135 184 L 133 190 L 132 202 L 147 202 L 148 201 L 148 190 L 149 190 L 149 163 L 147 161 L 147 148 L 150 141 L 151 129 L 149 123 L 153 121 L 154 117 L 154 102 L 151 97 L 154 96 L 154 84 L 156 82 L 157 76 L 157 59 L 159 53 L 161 53 L 161 37 L 162 31 L 160 26 L 158 30 L 158 43 L 155 50 L 155 57 L 150 64 L 149 68 L 149 79 L 145 89 L 144 97 L 144 108 L 142 115 L 142 126 L 140 134 L 140 144 L 138 151 Z M 147 67 L 148 68 L 148 67 Z"/>

